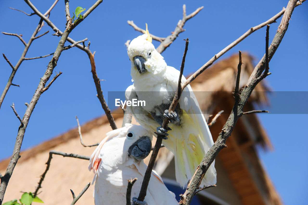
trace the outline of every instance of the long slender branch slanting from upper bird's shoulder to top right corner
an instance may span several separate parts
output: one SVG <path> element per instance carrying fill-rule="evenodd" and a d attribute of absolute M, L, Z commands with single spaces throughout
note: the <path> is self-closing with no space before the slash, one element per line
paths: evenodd
<path fill-rule="evenodd" d="M 304 1 L 302 1 L 304 2 Z M 300 3 L 298 2 L 296 4 L 296 6 L 300 5 Z M 207 69 L 209 66 L 211 66 L 213 64 L 213 62 L 215 62 L 218 58 L 220 58 L 223 54 L 225 54 L 228 50 L 230 50 L 231 48 L 233 48 L 234 46 L 236 46 L 239 42 L 241 42 L 242 40 L 244 40 L 247 36 L 249 36 L 250 34 L 252 34 L 253 32 L 255 32 L 256 30 L 266 26 L 267 24 L 271 24 L 276 22 L 276 20 L 281 17 L 284 13 L 285 13 L 286 9 L 283 8 L 278 14 L 276 14 L 275 16 L 273 16 L 272 18 L 270 18 L 269 20 L 267 20 L 266 22 L 263 22 L 257 26 L 251 27 L 248 31 L 246 31 L 246 33 L 244 33 L 243 35 L 241 35 L 240 38 L 238 38 L 237 40 L 233 41 L 231 44 L 229 44 L 227 47 L 225 47 L 223 50 L 221 50 L 219 53 L 217 53 L 216 55 L 214 55 L 208 62 L 206 62 L 201 68 L 199 68 L 199 70 L 197 70 L 193 75 L 191 75 L 186 82 L 184 82 L 182 84 L 182 88 L 186 87 L 190 82 L 193 81 L 193 79 L 195 79 L 198 75 L 200 75 L 205 69 Z"/>

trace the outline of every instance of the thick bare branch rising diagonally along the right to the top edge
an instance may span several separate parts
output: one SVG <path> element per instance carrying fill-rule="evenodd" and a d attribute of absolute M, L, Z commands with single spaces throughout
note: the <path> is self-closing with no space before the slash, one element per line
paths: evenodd
<path fill-rule="evenodd" d="M 286 12 L 282 17 L 282 21 L 280 23 L 280 26 L 278 27 L 278 31 L 271 43 L 270 48 L 267 51 L 269 52 L 269 58 L 268 58 L 269 61 L 273 57 L 280 42 L 282 41 L 284 34 L 286 33 L 291 14 L 294 10 L 294 7 L 297 4 L 296 2 L 297 0 L 290 0 L 288 3 L 288 6 L 286 7 L 286 10 L 285 10 Z M 260 62 L 265 62 L 265 56 L 263 56 Z M 253 70 L 253 73 L 250 75 L 250 78 L 246 86 L 244 87 L 243 91 L 240 94 L 239 102 L 235 102 L 232 112 L 227 122 L 225 123 L 224 127 L 222 128 L 221 133 L 219 133 L 219 136 L 216 142 L 210 148 L 210 150 L 206 153 L 202 162 L 197 167 L 197 170 L 195 174 L 193 175 L 192 180 L 189 182 L 185 193 L 181 195 L 180 204 L 188 205 L 191 203 L 191 200 L 193 196 L 195 195 L 197 188 L 199 187 L 201 180 L 204 177 L 209 166 L 214 161 L 218 153 L 224 147 L 226 147 L 225 142 L 231 135 L 231 132 L 233 131 L 234 126 L 237 123 L 237 120 L 243 115 L 243 107 L 245 106 L 255 86 L 258 84 L 258 82 L 261 81 L 261 80 L 258 80 L 258 78 L 261 76 L 264 69 L 265 69 L 265 63 L 259 63 Z M 265 74 L 265 77 L 266 76 L 267 74 Z"/>

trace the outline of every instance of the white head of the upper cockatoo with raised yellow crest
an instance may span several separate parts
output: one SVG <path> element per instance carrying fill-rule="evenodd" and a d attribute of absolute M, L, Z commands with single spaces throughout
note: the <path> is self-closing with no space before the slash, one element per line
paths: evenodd
<path fill-rule="evenodd" d="M 152 44 L 152 37 L 149 34 L 147 24 L 144 33 L 133 39 L 127 49 L 129 60 L 132 62 L 131 75 L 133 80 L 138 74 L 163 72 L 167 66 L 164 58 Z"/>

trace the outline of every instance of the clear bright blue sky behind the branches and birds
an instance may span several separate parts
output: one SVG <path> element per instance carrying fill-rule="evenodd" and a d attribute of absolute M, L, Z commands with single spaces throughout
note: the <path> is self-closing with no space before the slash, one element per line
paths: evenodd
<path fill-rule="evenodd" d="M 51 6 L 53 1 L 32 1 L 42 12 Z M 71 0 L 71 14 L 77 6 L 88 9 L 94 1 Z M 140 35 L 127 24 L 133 20 L 136 25 L 144 27 L 148 23 L 149 31 L 156 36 L 166 37 L 174 30 L 176 23 L 182 19 L 182 6 L 186 4 L 187 14 L 200 6 L 205 6 L 197 16 L 186 22 L 185 32 L 163 53 L 168 65 L 180 67 L 184 51 L 184 41 L 189 38 L 189 50 L 186 57 L 184 75 L 188 75 L 214 54 L 241 36 L 250 27 L 256 26 L 277 14 L 286 7 L 287 1 L 103 1 L 76 29 L 70 34 L 75 40 L 88 38 L 90 49 L 96 51 L 96 69 L 102 81 L 105 98 L 108 91 L 124 91 L 132 84 L 130 62 L 124 43 Z M 36 15 L 11 10 L 8 7 L 32 10 L 24 1 L 1 1 L 0 31 L 22 34 L 28 42 L 39 22 Z M 74 8 L 74 9 L 73 9 Z M 66 19 L 64 1 L 60 0 L 51 12 L 51 21 L 62 31 Z M 295 8 L 281 45 L 270 62 L 270 72 L 266 78 L 274 91 L 308 91 L 307 51 L 308 51 L 308 2 Z M 270 27 L 270 41 L 273 39 L 278 23 Z M 47 25 L 39 34 L 51 30 Z M 26 55 L 27 58 L 53 53 L 59 37 L 49 34 L 35 40 Z M 14 36 L 0 34 L 0 50 L 16 64 L 23 51 L 23 44 Z M 247 51 L 256 57 L 256 63 L 264 54 L 265 27 L 254 32 L 221 59 Z M 154 41 L 153 41 L 154 42 Z M 67 45 L 69 45 L 67 43 Z M 158 42 L 154 42 L 158 46 Z M 9 157 L 13 151 L 19 121 L 10 105 L 15 104 L 16 111 L 22 116 L 26 110 L 25 102 L 30 102 L 39 79 L 43 76 L 51 57 L 24 61 L 13 80 L 20 87 L 11 86 L 0 109 L 0 160 Z M 0 89 L 4 89 L 11 73 L 10 66 L 0 58 Z M 103 114 L 96 97 L 96 90 L 90 73 L 91 67 L 85 52 L 78 48 L 64 51 L 55 71 L 63 74 L 42 94 L 30 118 L 22 150 L 33 147 L 45 140 L 59 135 L 76 126 L 75 115 L 80 123 L 85 123 Z M 306 94 L 307 96 L 307 94 Z M 296 99 L 288 99 L 286 111 L 291 106 L 298 106 Z M 302 102 L 306 102 L 303 98 Z M 107 99 L 106 99 L 107 100 Z M 283 99 L 282 99 L 283 100 Z M 305 105 L 301 103 L 301 105 Z M 272 105 L 275 106 L 275 105 Z M 270 109 L 270 108 L 269 108 Z M 283 112 L 282 112 L 283 113 Z M 307 112 L 303 112 L 307 113 Z M 275 187 L 286 204 L 307 204 L 307 155 L 305 145 L 307 114 L 260 114 L 258 115 L 274 145 L 273 152 L 260 151 L 260 157 L 273 180 Z M 301 146 L 302 145 L 302 146 Z"/>

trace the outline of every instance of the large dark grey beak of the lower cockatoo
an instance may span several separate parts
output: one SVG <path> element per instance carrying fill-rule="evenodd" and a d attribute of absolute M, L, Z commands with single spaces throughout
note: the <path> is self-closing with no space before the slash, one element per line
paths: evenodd
<path fill-rule="evenodd" d="M 146 158 L 152 149 L 152 142 L 149 137 L 144 136 L 138 139 L 134 144 L 132 144 L 128 149 L 128 155 L 131 155 L 137 160 L 142 160 Z"/>

